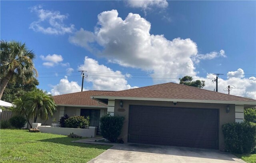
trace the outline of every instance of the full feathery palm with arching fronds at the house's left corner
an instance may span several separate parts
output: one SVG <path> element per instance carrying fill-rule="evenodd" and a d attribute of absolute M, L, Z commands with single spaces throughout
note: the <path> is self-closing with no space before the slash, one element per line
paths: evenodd
<path fill-rule="evenodd" d="M 49 115 L 52 116 L 57 111 L 56 106 L 52 95 L 42 89 L 26 93 L 26 107 L 29 109 L 29 115 L 34 117 L 34 123 L 38 118 L 47 120 Z"/>

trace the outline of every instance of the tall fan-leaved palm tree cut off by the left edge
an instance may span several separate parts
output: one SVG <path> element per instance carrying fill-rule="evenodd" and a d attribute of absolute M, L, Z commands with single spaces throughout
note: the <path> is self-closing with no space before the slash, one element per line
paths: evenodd
<path fill-rule="evenodd" d="M 13 78 L 29 83 L 38 72 L 34 67 L 35 54 L 25 43 L 16 41 L 0 41 L 0 99 L 8 82 Z"/>

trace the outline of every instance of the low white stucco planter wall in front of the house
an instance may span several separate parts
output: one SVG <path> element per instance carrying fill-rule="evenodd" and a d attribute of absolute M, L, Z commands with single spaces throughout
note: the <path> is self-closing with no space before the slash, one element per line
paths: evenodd
<path fill-rule="evenodd" d="M 37 127 L 42 133 L 53 133 L 59 135 L 68 135 L 74 133 L 82 137 L 95 137 L 97 127 L 90 126 L 88 129 L 64 128 L 64 127 L 51 127 L 41 126 L 41 123 L 33 123 L 32 128 Z"/>

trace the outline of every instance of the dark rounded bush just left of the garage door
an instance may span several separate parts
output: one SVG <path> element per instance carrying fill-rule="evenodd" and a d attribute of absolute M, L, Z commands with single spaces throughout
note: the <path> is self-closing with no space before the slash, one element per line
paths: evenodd
<path fill-rule="evenodd" d="M 100 133 L 110 142 L 116 142 L 121 134 L 124 117 L 106 115 L 100 118 Z"/>

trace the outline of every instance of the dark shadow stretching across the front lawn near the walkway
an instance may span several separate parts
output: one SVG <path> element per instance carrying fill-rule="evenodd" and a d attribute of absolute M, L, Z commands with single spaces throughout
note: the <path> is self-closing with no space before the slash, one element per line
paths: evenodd
<path fill-rule="evenodd" d="M 85 138 L 84 138 L 85 139 Z M 75 143 L 71 142 L 74 140 L 81 140 L 80 138 L 70 138 L 70 137 L 57 137 L 51 139 L 42 139 L 38 140 L 41 142 L 49 142 L 49 143 L 57 143 L 57 144 L 64 144 L 64 145 L 72 145 L 76 147 L 88 147 L 88 148 L 96 148 L 96 149 L 109 149 L 113 145 L 100 145 L 100 144 L 86 144 L 86 143 Z"/>

